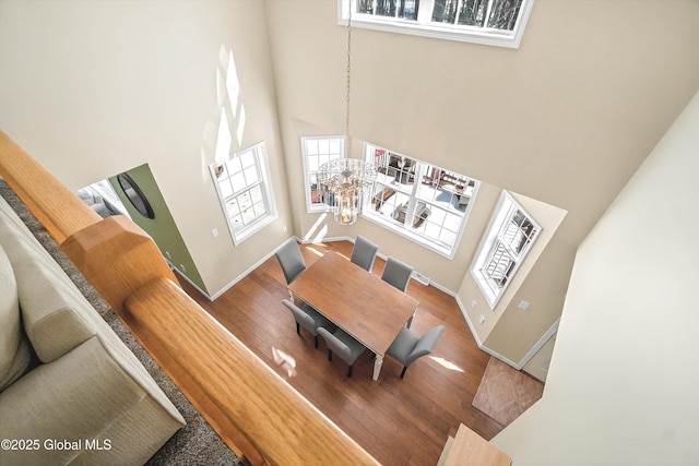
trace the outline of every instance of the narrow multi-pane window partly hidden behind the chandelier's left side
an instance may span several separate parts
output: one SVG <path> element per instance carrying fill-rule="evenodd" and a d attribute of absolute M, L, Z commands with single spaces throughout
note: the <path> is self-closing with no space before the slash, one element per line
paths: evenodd
<path fill-rule="evenodd" d="M 306 210 L 324 212 L 328 210 L 328 204 L 321 198 L 318 169 L 323 164 L 345 156 L 345 139 L 343 136 L 301 138 L 301 154 L 306 179 Z"/>

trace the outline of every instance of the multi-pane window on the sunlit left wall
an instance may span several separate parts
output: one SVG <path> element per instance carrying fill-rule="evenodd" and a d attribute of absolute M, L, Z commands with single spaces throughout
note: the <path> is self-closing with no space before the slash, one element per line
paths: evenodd
<path fill-rule="evenodd" d="M 211 171 L 236 244 L 276 218 L 264 143 L 213 164 Z"/>

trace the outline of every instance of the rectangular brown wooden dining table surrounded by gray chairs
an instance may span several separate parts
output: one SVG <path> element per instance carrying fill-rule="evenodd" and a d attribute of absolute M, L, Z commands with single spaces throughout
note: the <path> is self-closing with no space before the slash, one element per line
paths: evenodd
<path fill-rule="evenodd" d="M 288 289 L 376 355 L 374 380 L 389 346 L 419 306 L 415 298 L 332 251 Z"/>

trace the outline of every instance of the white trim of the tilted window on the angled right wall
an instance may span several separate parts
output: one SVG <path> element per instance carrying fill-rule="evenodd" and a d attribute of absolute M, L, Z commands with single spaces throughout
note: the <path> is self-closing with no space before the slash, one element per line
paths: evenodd
<path fill-rule="evenodd" d="M 510 279 L 507 280 L 507 283 L 502 288 L 494 289 L 493 286 L 490 285 L 489 277 L 483 272 L 483 267 L 485 266 L 487 260 L 489 259 L 490 251 L 495 246 L 495 241 L 498 237 L 498 232 L 502 228 L 502 223 L 505 222 L 502 217 L 505 217 L 511 210 L 511 207 L 508 207 L 506 211 L 505 210 L 506 204 L 512 204 L 514 208 L 522 211 L 526 216 L 526 218 L 529 218 L 529 220 L 532 222 L 532 224 L 534 224 L 534 227 L 536 228 L 536 232 L 534 234 L 531 241 L 526 246 L 526 249 L 522 251 L 519 260 L 514 262 L 514 267 L 512 268 L 512 272 L 510 274 Z M 517 272 L 519 271 L 520 266 L 526 260 L 526 256 L 529 255 L 529 252 L 531 251 L 532 246 L 538 238 L 541 231 L 542 231 L 541 225 L 538 225 L 538 223 L 529 214 L 529 212 L 526 212 L 526 210 L 522 207 L 520 203 L 517 202 L 509 192 L 502 191 L 502 193 L 500 194 L 498 204 L 495 207 L 495 211 L 493 212 L 493 216 L 490 217 L 490 222 L 488 224 L 486 234 L 484 235 L 483 240 L 478 246 L 478 250 L 476 251 L 476 254 L 474 256 L 475 259 L 473 260 L 473 263 L 471 264 L 471 267 L 470 267 L 471 276 L 473 276 L 483 296 L 486 297 L 486 300 L 488 302 L 488 306 L 490 306 L 490 309 L 495 309 L 498 302 L 500 302 L 500 299 L 502 298 L 507 289 L 510 287 L 510 284 L 512 283 L 512 279 L 517 275 Z"/>

